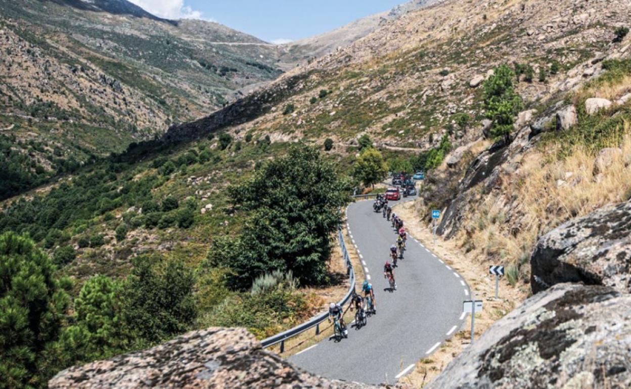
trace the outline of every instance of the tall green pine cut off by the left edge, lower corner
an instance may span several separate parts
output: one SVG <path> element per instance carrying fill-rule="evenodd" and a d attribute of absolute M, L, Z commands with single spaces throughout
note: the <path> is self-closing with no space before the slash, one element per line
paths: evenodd
<path fill-rule="evenodd" d="M 27 236 L 0 235 L 0 386 L 45 387 L 69 305 L 50 258 Z"/>

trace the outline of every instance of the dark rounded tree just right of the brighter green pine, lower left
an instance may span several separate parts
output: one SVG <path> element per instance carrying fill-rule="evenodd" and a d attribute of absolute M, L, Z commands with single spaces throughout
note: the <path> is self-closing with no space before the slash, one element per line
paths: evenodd
<path fill-rule="evenodd" d="M 134 334 L 156 343 L 185 332 L 195 319 L 195 277 L 181 260 L 152 262 L 147 257 L 134 259 L 122 301 Z"/>

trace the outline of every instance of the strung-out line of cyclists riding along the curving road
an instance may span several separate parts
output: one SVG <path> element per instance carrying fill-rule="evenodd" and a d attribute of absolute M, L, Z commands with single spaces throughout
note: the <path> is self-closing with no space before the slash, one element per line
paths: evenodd
<path fill-rule="evenodd" d="M 383 210 L 384 218 L 392 222 L 392 228 L 397 233 L 396 243 L 390 247 L 390 258 L 386 260 L 384 265 L 384 278 L 388 280 L 390 291 L 396 291 L 396 280 L 394 279 L 394 268 L 398 267 L 398 261 L 403 259 L 403 252 L 406 250 L 406 240 L 408 234 L 403 226 L 403 219 L 392 212 L 392 207 L 388 205 L 388 200 L 385 197 L 378 196 L 373 205 L 375 211 L 377 207 Z M 362 296 L 363 294 L 363 296 Z M 365 303 L 365 304 L 364 304 Z M 362 291 L 360 294 L 353 291 L 349 308 L 351 311 L 357 310 L 355 314 L 355 325 L 361 327 L 365 324 L 366 316 L 370 313 L 372 315 L 377 313 L 377 301 L 375 301 L 375 293 L 372 284 L 365 280 L 362 284 Z M 341 332 L 344 337 L 348 335 L 346 329 L 346 323 L 344 322 L 344 311 L 339 304 L 331 303 L 329 305 L 329 323 L 333 319 L 341 326 Z"/>

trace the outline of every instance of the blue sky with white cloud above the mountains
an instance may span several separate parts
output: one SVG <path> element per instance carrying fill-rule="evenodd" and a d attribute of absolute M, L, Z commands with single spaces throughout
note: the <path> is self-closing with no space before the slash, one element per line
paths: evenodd
<path fill-rule="evenodd" d="M 406 0 L 129 0 L 156 16 L 216 21 L 273 43 L 331 31 Z"/>

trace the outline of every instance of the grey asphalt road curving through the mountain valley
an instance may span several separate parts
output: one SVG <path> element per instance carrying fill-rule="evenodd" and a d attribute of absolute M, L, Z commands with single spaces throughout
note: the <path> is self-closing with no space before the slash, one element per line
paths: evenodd
<path fill-rule="evenodd" d="M 383 266 L 396 241 L 394 229 L 372 210 L 372 200 L 351 204 L 347 216 L 353 243 L 375 289 L 377 315 L 363 328 L 350 327 L 348 339 L 322 340 L 290 361 L 327 378 L 392 384 L 459 330 L 469 288 L 454 270 L 408 238 L 405 258 L 394 273 L 397 290 L 390 293 Z M 355 272 L 360 289 L 362 272 Z"/>

